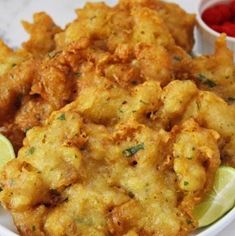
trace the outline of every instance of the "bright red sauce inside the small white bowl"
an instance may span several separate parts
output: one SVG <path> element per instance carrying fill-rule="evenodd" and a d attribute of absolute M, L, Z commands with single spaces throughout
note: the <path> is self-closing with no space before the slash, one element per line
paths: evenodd
<path fill-rule="evenodd" d="M 235 0 L 229 4 L 217 4 L 206 9 L 202 19 L 216 32 L 235 37 Z"/>

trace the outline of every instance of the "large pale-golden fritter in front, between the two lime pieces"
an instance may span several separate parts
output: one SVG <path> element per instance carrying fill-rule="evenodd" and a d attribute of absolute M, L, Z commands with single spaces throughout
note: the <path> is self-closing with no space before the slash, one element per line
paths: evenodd
<path fill-rule="evenodd" d="M 19 232 L 190 232 L 196 226 L 190 212 L 220 164 L 219 135 L 193 120 L 172 132 L 154 128 L 154 119 L 147 123 L 147 114 L 162 106 L 157 81 L 126 91 L 98 76 L 93 83 L 80 80 L 75 102 L 28 131 L 18 158 L 2 174 L 1 201 Z"/>

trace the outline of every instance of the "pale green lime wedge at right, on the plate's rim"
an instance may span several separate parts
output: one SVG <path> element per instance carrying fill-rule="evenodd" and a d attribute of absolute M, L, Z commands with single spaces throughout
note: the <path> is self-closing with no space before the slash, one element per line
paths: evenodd
<path fill-rule="evenodd" d="M 235 202 L 235 169 L 220 167 L 215 176 L 213 189 L 204 200 L 195 207 L 194 217 L 199 227 L 212 224 L 234 207 Z"/>

